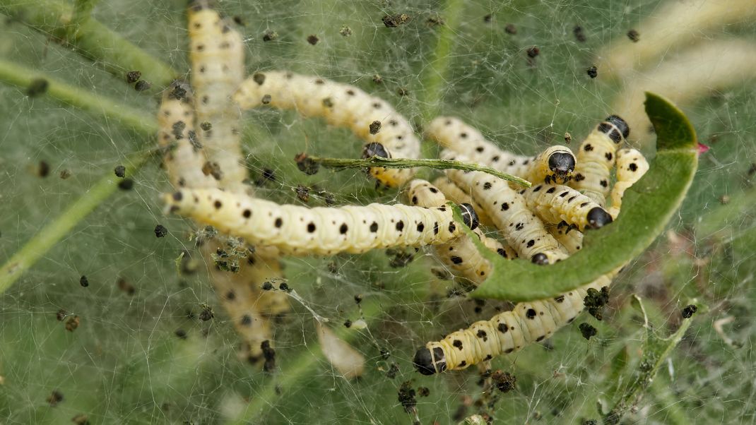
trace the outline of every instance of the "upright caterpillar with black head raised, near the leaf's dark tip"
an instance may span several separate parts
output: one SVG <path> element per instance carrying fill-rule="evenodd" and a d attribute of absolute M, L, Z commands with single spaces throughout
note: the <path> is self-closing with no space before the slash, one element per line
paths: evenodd
<path fill-rule="evenodd" d="M 618 146 L 630 135 L 627 122 L 609 115 L 596 126 L 580 146 L 575 178 L 569 186 L 578 189 L 598 205 L 605 205 L 609 195 L 609 174 L 615 165 Z"/>

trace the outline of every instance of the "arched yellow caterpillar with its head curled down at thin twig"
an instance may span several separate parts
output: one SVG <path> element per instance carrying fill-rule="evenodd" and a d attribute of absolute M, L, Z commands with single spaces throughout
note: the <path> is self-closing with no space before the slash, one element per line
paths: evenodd
<path fill-rule="evenodd" d="M 407 119 L 385 100 L 352 85 L 293 72 L 257 72 L 240 85 L 234 100 L 244 109 L 261 104 L 295 109 L 305 117 L 323 117 L 331 125 L 348 127 L 366 141 L 364 157 L 420 157 L 420 140 Z M 370 174 L 386 186 L 402 186 L 414 170 L 374 167 Z"/>

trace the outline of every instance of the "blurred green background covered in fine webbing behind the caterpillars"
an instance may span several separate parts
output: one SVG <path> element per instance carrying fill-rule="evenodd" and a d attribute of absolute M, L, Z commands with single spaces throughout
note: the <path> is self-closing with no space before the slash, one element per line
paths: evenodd
<path fill-rule="evenodd" d="M 179 74 L 187 72 L 184 0 L 95 3 L 93 19 Z M 603 69 L 590 79 L 585 69 L 600 60 L 602 48 L 624 42 L 627 31 L 649 17 L 657 19 L 664 3 L 234 0 L 218 8 L 243 23 L 249 72 L 290 69 L 350 82 L 389 100 L 418 128 L 437 114 L 459 115 L 507 149 L 534 153 L 562 143 L 567 131 L 577 146 L 596 122 L 615 112 L 621 82 L 603 78 Z M 122 51 L 88 60 L 61 45 L 52 30 L 23 23 L 40 8 L 54 8 L 0 5 L 5 13 L 0 59 L 118 106 L 156 111 L 159 72 L 139 69 L 153 89 L 135 91 L 124 79 L 134 69 L 113 65 Z M 383 24 L 386 14 L 402 13 L 411 20 L 395 28 Z M 352 34 L 341 35 L 343 26 Z M 575 26 L 581 26 L 584 42 Z M 264 42 L 271 32 L 277 38 Z M 308 35 L 319 42 L 309 44 Z M 640 42 L 653 42 L 640 36 Z M 756 26 L 752 20 L 722 23 L 708 28 L 704 38 L 756 42 Z M 529 60 L 526 52 L 533 46 L 540 54 Z M 665 51 L 653 63 L 674 54 Z M 680 79 L 685 74 L 681 70 Z M 455 423 L 479 412 L 497 423 L 600 420 L 639 370 L 643 322 L 631 306 L 632 294 L 643 298 L 660 335 L 680 324 L 687 298 L 697 297 L 708 308 L 693 316 L 683 341 L 624 423 L 753 422 L 753 81 L 712 87 L 705 97 L 680 105 L 711 149 L 701 156 L 679 217 L 616 280 L 604 321 L 587 316 L 578 321 L 596 326 L 597 337 L 585 340 L 576 322 L 544 343 L 493 362 L 494 369 L 517 377 L 511 393 L 482 396 L 472 368 L 435 377 L 414 372 L 414 350 L 426 340 L 506 306 L 449 299 L 454 283 L 438 281 L 429 272 L 435 260 L 422 252 L 399 269 L 389 266 L 383 251 L 285 261 L 290 286 L 335 328 L 361 317 L 355 294 L 374 302 L 365 312 L 371 317 L 367 330 L 343 331 L 367 359 L 359 380 L 340 377 L 318 353 L 312 316 L 299 303 L 275 328 L 273 374 L 238 359 L 239 340 L 204 265 L 194 275 L 178 273 L 175 260 L 182 251 L 201 257 L 191 248 L 188 223 L 163 215 L 159 196 L 169 183 L 150 159 L 132 176 L 132 189 L 107 197 L 0 295 L 0 423 L 70 423 L 79 414 L 91 423 L 222 423 L 240 417 L 252 423 L 412 423 L 414 414 L 407 414 L 397 396 L 406 381 L 418 391 L 421 423 Z M 258 179 L 264 168 L 277 175 L 261 196 L 301 203 L 293 188 L 302 184 L 319 186 L 340 204 L 401 199 L 395 191 L 376 191 L 360 171 L 305 176 L 296 170 L 296 152 L 358 156 L 361 143 L 349 131 L 294 112 L 261 109 L 246 118 L 250 177 Z M 132 163 L 130 154 L 154 145 L 154 137 L 112 117 L 0 84 L 2 263 L 102 176 L 116 181 L 113 168 Z M 423 149 L 430 156 L 436 148 L 426 142 Z M 64 171 L 70 177 L 61 178 Z M 324 200 L 313 197 L 308 205 Z M 168 237 L 155 238 L 158 223 L 169 229 Z M 79 285 L 82 275 L 86 288 Z M 119 288 L 119 279 L 135 291 Z M 215 319 L 197 319 L 201 303 L 214 308 Z M 79 328 L 67 331 L 65 321 L 56 319 L 59 310 L 79 316 Z M 717 333 L 714 323 L 721 319 L 729 322 Z M 177 337 L 177 330 L 187 337 Z M 429 394 L 421 396 L 420 388 Z M 54 391 L 63 399 L 53 406 Z"/>

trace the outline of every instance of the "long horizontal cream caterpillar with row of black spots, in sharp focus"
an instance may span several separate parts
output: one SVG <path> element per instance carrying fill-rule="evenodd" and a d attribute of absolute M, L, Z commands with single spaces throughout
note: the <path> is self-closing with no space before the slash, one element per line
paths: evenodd
<path fill-rule="evenodd" d="M 348 205 L 307 208 L 279 205 L 221 189 L 181 189 L 164 196 L 166 209 L 241 236 L 282 254 L 362 253 L 373 248 L 437 245 L 462 235 L 447 205 Z M 475 210 L 460 205 L 464 222 L 478 226 Z"/>

